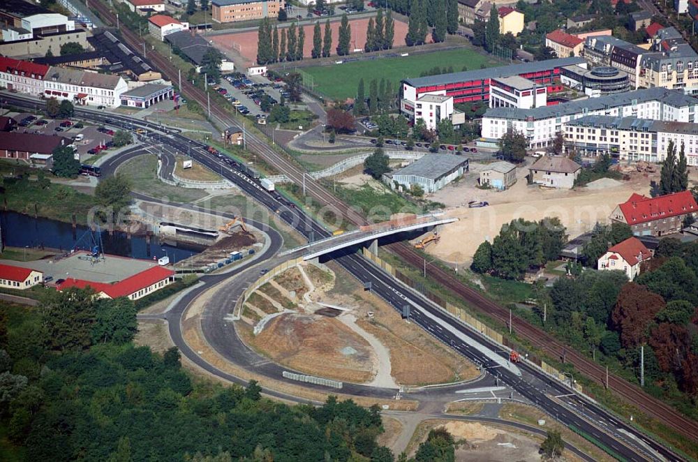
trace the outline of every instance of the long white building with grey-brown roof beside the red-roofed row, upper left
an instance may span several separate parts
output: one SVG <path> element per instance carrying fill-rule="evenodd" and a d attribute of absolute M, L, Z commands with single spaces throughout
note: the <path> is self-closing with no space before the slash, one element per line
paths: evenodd
<path fill-rule="evenodd" d="M 52 67 L 44 80 L 44 96 L 79 105 L 119 107 L 128 84 L 119 75 Z"/>

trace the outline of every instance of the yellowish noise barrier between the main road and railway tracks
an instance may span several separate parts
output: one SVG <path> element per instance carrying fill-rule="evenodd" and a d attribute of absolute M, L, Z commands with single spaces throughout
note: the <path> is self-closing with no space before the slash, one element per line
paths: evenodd
<path fill-rule="evenodd" d="M 422 295 L 424 295 L 424 297 L 433 301 L 433 303 L 436 304 L 436 306 L 450 313 L 450 315 L 452 315 L 454 318 L 458 318 L 459 320 L 461 320 L 461 322 L 463 322 L 463 324 L 468 325 L 470 329 L 480 332 L 480 334 L 487 336 L 492 341 L 495 341 L 500 345 L 504 345 L 507 348 L 519 348 L 519 346 L 515 345 L 512 341 L 510 341 L 509 338 L 503 336 L 495 329 L 492 329 L 488 325 L 484 324 L 484 322 L 478 320 L 473 315 L 466 313 L 465 311 L 463 311 L 463 309 L 459 308 L 458 306 L 455 306 L 454 304 L 445 301 L 435 293 L 431 292 L 431 290 L 424 287 L 424 284 L 420 283 L 419 281 L 413 281 L 413 279 L 410 278 L 410 276 L 403 274 L 401 271 L 392 267 L 391 264 L 380 259 L 378 255 L 371 253 L 371 251 L 369 251 L 368 248 L 362 248 L 362 254 L 365 258 L 371 260 L 371 262 L 376 264 L 376 266 L 383 269 L 383 271 L 390 274 L 401 283 L 421 293 Z M 529 356 L 528 361 L 540 367 L 541 370 L 544 371 L 544 373 L 547 373 L 548 375 L 551 375 L 560 381 L 565 381 L 565 375 L 563 375 L 563 373 L 560 373 L 560 371 L 558 371 L 550 364 L 547 364 L 546 362 L 542 361 L 542 359 L 535 356 Z M 577 389 L 578 392 L 584 393 L 584 389 L 581 387 L 581 385 L 575 383 L 574 388 Z"/>

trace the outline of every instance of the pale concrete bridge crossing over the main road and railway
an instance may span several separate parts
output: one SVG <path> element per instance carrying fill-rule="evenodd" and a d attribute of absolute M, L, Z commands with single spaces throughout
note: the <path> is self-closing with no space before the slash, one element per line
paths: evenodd
<path fill-rule="evenodd" d="M 443 213 L 397 218 L 376 225 L 362 226 L 355 231 L 343 232 L 336 236 L 327 237 L 320 241 L 294 248 L 289 253 L 305 249 L 306 254 L 303 255 L 303 260 L 313 260 L 313 258 L 318 258 L 327 253 L 359 244 L 369 244 L 373 248 L 373 252 L 378 253 L 378 239 L 381 237 L 399 232 L 432 228 L 438 225 L 445 225 L 446 223 L 453 223 L 454 221 L 458 221 L 458 218 L 450 218 Z"/>

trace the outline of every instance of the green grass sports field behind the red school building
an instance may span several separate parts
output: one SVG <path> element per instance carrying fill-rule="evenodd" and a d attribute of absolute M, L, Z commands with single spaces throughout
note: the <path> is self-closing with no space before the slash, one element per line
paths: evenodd
<path fill-rule="evenodd" d="M 320 91 L 329 99 L 344 99 L 356 95 L 356 89 L 362 77 L 364 77 L 366 96 L 368 96 L 369 82 L 374 78 L 379 81 L 383 77 L 391 80 L 392 88 L 396 90 L 399 88 L 400 80 L 419 77 L 425 70 L 430 70 L 434 66 L 441 68 L 453 66 L 453 70 L 459 72 L 463 66 L 467 66 L 468 70 L 475 70 L 480 69 L 482 65 L 491 67 L 501 65 L 501 62 L 468 48 L 461 48 L 408 57 L 378 58 L 371 61 L 315 66 L 303 68 L 303 71 L 312 76 L 315 91 Z M 310 80 L 307 77 L 305 80 L 310 86 Z"/>

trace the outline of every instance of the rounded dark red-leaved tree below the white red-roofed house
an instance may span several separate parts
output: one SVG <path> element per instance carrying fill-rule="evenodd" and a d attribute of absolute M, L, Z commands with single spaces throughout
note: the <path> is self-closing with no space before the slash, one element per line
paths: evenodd
<path fill-rule="evenodd" d="M 664 308 L 664 299 L 642 285 L 628 283 L 618 294 L 611 322 L 621 335 L 621 345 L 634 348 L 647 341 L 647 327 Z"/>

